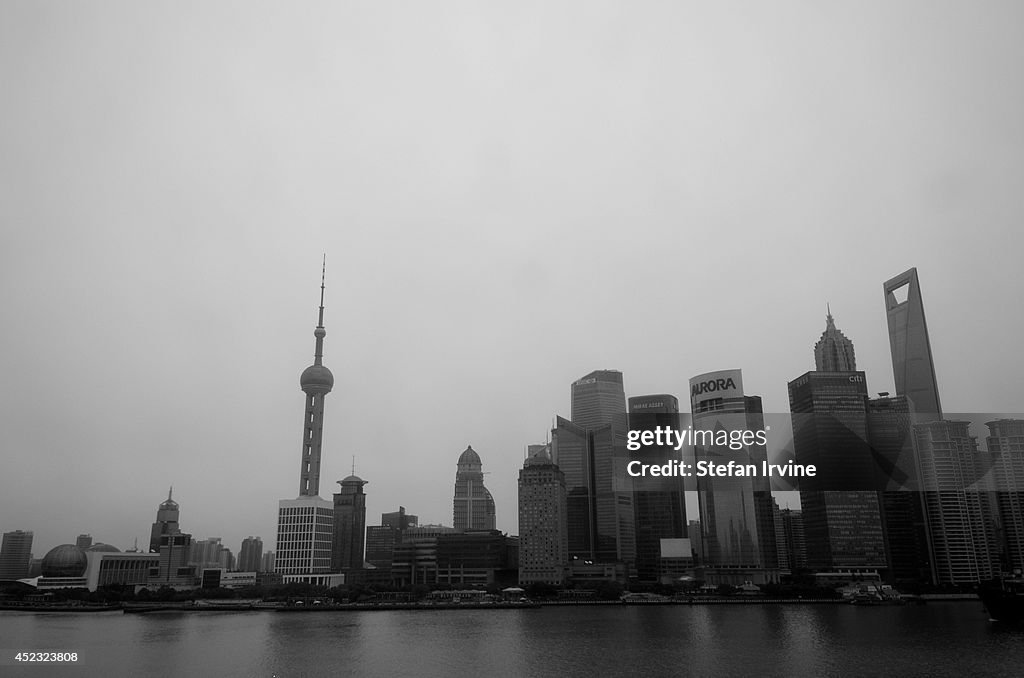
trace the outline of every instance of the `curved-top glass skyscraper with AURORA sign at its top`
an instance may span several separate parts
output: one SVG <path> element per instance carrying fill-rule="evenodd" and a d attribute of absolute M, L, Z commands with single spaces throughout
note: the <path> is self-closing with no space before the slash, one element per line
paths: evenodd
<path fill-rule="evenodd" d="M 764 428 L 761 398 L 743 394 L 739 370 L 709 372 L 690 379 L 694 430 L 742 431 Z M 695 444 L 696 460 L 756 464 L 762 446 Z M 713 584 L 766 584 L 778 579 L 778 555 L 771 490 L 767 478 L 697 476 L 703 579 Z M 692 539 L 693 536 L 691 536 Z"/>

